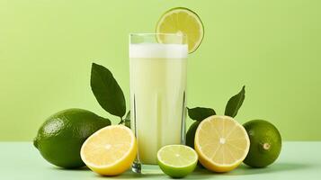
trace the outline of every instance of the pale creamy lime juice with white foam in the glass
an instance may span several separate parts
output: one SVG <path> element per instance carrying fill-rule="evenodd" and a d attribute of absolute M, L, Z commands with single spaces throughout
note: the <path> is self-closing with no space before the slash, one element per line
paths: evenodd
<path fill-rule="evenodd" d="M 142 164 L 156 164 L 159 148 L 183 142 L 187 51 L 186 44 L 129 45 L 131 129 Z"/>

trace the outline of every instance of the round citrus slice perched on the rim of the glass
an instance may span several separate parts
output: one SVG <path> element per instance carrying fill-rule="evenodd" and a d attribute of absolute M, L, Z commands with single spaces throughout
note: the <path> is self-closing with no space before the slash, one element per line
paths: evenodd
<path fill-rule="evenodd" d="M 159 19 L 156 33 L 177 33 L 187 36 L 188 51 L 194 52 L 201 45 L 204 28 L 200 17 L 185 7 L 175 7 L 168 10 Z M 158 41 L 164 41 L 164 36 L 158 35 Z"/>

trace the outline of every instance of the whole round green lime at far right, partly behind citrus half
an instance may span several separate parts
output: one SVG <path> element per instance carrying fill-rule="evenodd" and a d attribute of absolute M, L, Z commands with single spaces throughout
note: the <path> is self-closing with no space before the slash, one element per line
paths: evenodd
<path fill-rule="evenodd" d="M 243 161 L 247 166 L 271 165 L 281 153 L 281 134 L 269 121 L 253 120 L 243 124 L 250 138 L 250 150 Z"/>

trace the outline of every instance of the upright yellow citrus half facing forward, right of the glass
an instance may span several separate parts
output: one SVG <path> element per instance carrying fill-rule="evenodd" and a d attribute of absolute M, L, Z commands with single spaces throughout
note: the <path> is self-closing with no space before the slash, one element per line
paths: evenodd
<path fill-rule="evenodd" d="M 250 140 L 245 128 L 233 118 L 213 115 L 201 121 L 194 145 L 202 166 L 214 172 L 227 172 L 245 159 Z"/>

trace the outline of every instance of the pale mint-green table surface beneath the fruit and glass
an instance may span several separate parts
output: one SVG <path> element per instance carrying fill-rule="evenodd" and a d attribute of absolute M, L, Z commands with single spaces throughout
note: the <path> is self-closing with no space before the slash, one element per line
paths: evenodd
<path fill-rule="evenodd" d="M 166 175 L 138 175 L 130 170 L 118 176 L 96 175 L 87 168 L 67 170 L 50 165 L 31 142 L 0 142 L 1 180 L 94 180 L 94 179 L 166 179 Z M 281 156 L 265 168 L 250 168 L 241 165 L 225 174 L 196 169 L 190 179 L 321 179 L 321 141 L 284 142 Z"/>

